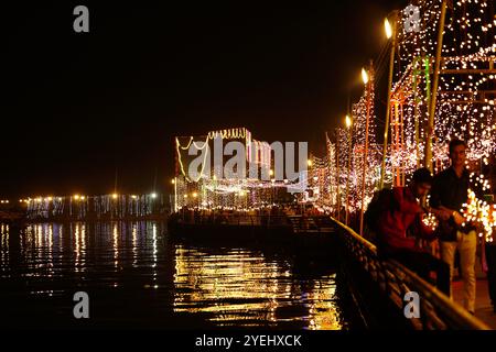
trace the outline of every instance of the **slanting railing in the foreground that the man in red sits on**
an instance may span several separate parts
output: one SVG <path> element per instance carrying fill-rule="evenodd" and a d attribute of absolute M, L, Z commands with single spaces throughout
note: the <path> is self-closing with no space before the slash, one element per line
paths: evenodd
<path fill-rule="evenodd" d="M 332 219 L 337 226 L 339 237 L 352 260 L 357 261 L 377 284 L 379 289 L 403 310 L 403 297 L 416 292 L 420 297 L 420 318 L 407 319 L 417 330 L 471 329 L 489 330 L 484 322 L 472 316 L 462 306 L 454 302 L 441 290 L 392 260 L 381 260 L 376 246 L 357 234 L 353 229 Z"/>

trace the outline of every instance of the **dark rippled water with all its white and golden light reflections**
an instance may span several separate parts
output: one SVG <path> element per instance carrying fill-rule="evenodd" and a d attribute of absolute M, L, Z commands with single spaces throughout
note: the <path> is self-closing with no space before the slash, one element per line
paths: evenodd
<path fill-rule="evenodd" d="M 218 326 L 346 328 L 332 271 L 306 275 L 291 257 L 175 243 L 161 222 L 0 224 L 0 300 L 19 300 L 2 314 L 20 320 L 63 316 L 58 307 L 72 318 L 71 295 L 86 290 L 108 307 L 105 324 L 126 306 L 134 311 L 126 319 L 171 328 L 185 312 Z"/>

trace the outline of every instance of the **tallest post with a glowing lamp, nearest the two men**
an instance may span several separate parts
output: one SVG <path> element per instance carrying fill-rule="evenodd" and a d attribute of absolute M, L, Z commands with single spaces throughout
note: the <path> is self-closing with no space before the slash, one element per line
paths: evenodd
<path fill-rule="evenodd" d="M 389 20 L 386 18 L 384 20 L 384 26 L 385 26 L 385 31 L 386 31 L 386 36 L 387 38 L 391 38 L 391 53 L 390 53 L 390 57 L 389 57 L 389 77 L 388 77 L 388 101 L 386 105 L 386 123 L 385 123 L 385 128 L 384 128 L 384 147 L 382 147 L 382 164 L 380 167 L 380 184 L 379 184 L 379 188 L 382 189 L 384 188 L 384 179 L 386 176 L 386 155 L 388 153 L 388 133 L 389 133 L 389 119 L 390 119 L 390 114 L 391 114 L 391 89 L 392 89 L 392 74 L 395 72 L 395 50 L 396 50 L 396 22 L 397 22 L 397 15 L 398 12 L 397 11 L 392 11 L 391 13 L 391 21 L 392 21 L 392 26 L 389 22 Z"/>

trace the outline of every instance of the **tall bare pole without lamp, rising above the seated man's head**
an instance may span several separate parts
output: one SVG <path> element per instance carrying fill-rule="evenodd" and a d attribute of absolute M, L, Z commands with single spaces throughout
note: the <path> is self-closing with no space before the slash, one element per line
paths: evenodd
<path fill-rule="evenodd" d="M 432 81 L 432 97 L 431 105 L 429 107 L 429 125 L 425 133 L 425 161 L 424 166 L 432 172 L 432 136 L 434 134 L 434 114 L 435 114 L 435 100 L 438 98 L 438 85 L 439 85 L 439 72 L 441 67 L 441 54 L 443 48 L 443 34 L 444 34 L 444 20 L 446 18 L 446 1 L 442 0 L 441 4 L 441 18 L 439 21 L 438 32 L 438 47 L 435 51 L 435 65 Z"/>

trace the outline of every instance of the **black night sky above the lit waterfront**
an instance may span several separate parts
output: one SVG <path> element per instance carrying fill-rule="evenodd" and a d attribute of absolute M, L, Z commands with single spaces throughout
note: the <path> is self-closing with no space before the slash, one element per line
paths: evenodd
<path fill-rule="evenodd" d="M 223 128 L 323 153 L 407 4 L 101 2 L 2 6 L 0 198 L 108 193 L 116 168 L 121 191 L 151 190 L 155 170 L 166 189 L 173 136 Z"/>

